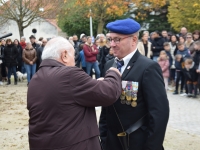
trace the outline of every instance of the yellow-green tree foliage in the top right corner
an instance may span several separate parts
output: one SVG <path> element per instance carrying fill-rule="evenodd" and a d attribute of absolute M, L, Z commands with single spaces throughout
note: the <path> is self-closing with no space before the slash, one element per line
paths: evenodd
<path fill-rule="evenodd" d="M 199 0 L 170 0 L 168 21 L 176 31 L 186 27 L 190 32 L 200 29 Z"/>

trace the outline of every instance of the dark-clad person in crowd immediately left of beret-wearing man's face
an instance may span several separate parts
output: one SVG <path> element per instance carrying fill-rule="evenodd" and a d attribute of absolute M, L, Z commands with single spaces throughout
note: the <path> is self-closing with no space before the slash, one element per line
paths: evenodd
<path fill-rule="evenodd" d="M 99 68 L 100 68 L 101 76 L 104 70 L 104 65 L 106 63 L 106 56 L 109 54 L 109 51 L 110 51 L 110 42 L 106 40 L 105 45 L 99 48 L 99 53 L 100 53 Z"/>

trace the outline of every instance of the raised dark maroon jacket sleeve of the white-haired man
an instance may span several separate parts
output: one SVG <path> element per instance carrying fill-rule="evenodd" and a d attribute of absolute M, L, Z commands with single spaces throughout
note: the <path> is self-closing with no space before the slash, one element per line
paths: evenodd
<path fill-rule="evenodd" d="M 76 68 L 70 76 L 71 93 L 82 106 L 109 106 L 121 94 L 121 77 L 109 70 L 103 81 L 92 79 L 82 69 Z"/>

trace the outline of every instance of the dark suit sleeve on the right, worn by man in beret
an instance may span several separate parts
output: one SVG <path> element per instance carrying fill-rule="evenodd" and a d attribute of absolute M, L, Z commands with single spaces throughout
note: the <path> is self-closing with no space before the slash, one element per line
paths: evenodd
<path fill-rule="evenodd" d="M 157 63 L 151 63 L 145 70 L 142 85 L 149 123 L 147 127 L 148 138 L 144 150 L 160 150 L 169 118 L 169 102 L 162 72 Z"/>

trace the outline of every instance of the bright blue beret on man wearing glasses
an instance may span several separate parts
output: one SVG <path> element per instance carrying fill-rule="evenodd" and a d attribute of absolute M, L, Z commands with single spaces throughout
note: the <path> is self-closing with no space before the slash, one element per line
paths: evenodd
<path fill-rule="evenodd" d="M 106 25 L 110 32 L 119 34 L 133 34 L 140 30 L 140 24 L 133 19 L 123 19 L 110 22 Z"/>

